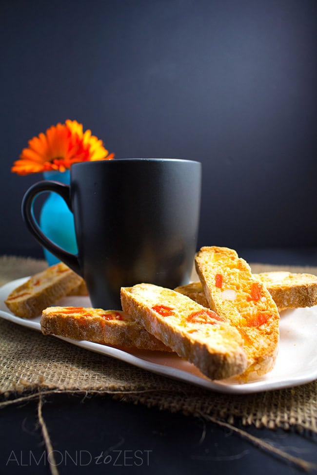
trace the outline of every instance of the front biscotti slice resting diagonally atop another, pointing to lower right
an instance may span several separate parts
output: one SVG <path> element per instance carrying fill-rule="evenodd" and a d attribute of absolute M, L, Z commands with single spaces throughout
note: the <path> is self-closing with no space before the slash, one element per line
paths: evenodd
<path fill-rule="evenodd" d="M 121 304 L 125 313 L 208 378 L 220 380 L 245 370 L 238 331 L 188 297 L 157 285 L 139 284 L 121 288 Z"/>

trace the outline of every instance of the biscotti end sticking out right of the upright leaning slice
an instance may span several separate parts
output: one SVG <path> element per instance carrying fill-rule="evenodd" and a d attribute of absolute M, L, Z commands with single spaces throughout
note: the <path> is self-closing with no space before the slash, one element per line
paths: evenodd
<path fill-rule="evenodd" d="M 317 305 L 317 276 L 292 272 L 253 274 L 262 282 L 278 308 L 302 308 Z"/>

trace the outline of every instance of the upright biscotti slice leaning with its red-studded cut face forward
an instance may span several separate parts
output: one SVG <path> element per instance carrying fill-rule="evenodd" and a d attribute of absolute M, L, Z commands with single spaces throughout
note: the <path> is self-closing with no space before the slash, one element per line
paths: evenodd
<path fill-rule="evenodd" d="M 277 357 L 279 313 L 265 285 L 227 247 L 202 247 L 195 263 L 208 306 L 237 328 L 244 340 L 245 379 L 270 371 Z"/>

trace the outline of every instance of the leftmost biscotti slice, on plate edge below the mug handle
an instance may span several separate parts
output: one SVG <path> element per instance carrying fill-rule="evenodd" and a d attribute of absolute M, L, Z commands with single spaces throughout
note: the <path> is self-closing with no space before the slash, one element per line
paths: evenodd
<path fill-rule="evenodd" d="M 81 283 L 81 277 L 60 262 L 14 289 L 5 304 L 17 317 L 33 318 Z"/>

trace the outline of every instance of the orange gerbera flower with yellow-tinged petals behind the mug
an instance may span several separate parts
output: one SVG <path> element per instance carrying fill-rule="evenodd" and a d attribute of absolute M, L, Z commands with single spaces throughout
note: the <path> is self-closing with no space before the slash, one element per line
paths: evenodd
<path fill-rule="evenodd" d="M 18 175 L 28 175 L 39 171 L 65 171 L 73 163 L 92 160 L 111 160 L 114 153 L 103 147 L 102 140 L 83 132 L 82 124 L 76 120 L 66 120 L 65 124 L 52 125 L 46 133 L 29 140 L 20 160 L 14 162 L 11 171 Z"/>

